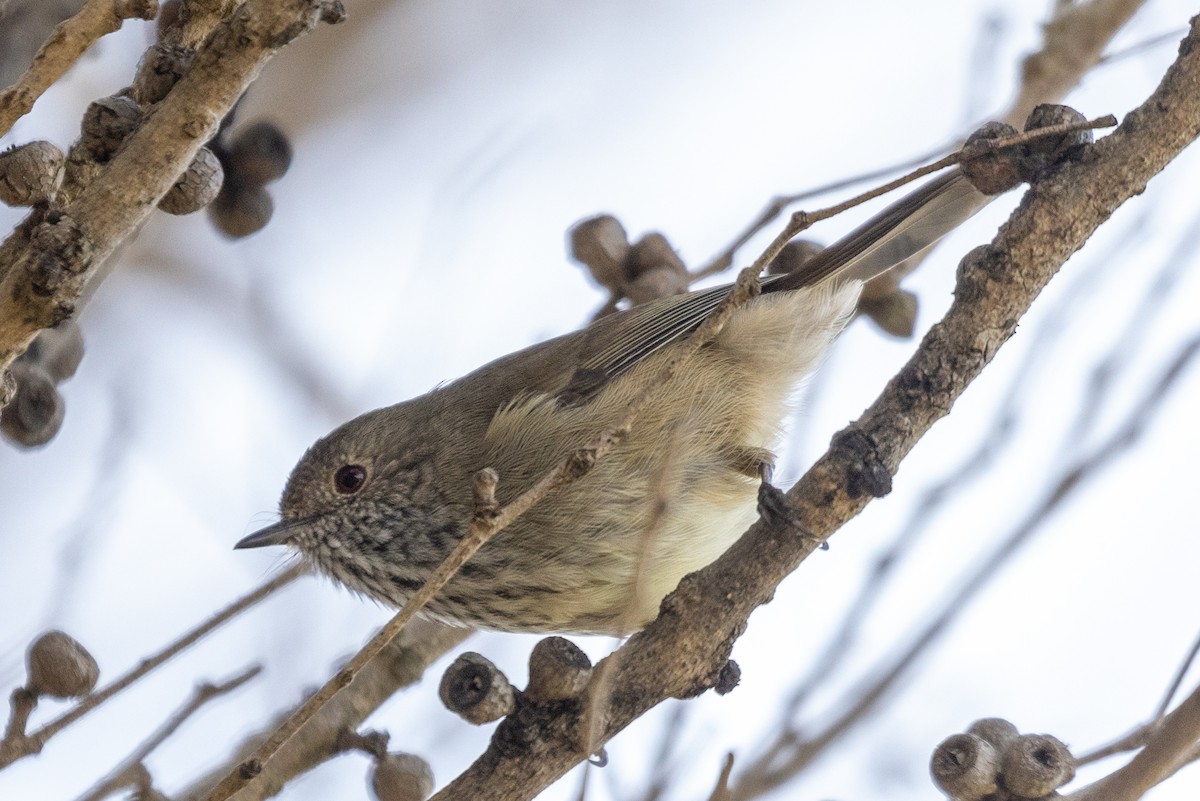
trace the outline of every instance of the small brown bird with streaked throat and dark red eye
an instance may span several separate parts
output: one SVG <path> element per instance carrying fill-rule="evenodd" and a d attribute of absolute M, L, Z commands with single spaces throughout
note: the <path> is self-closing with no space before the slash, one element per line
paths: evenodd
<path fill-rule="evenodd" d="M 756 519 L 788 398 L 850 319 L 862 282 L 984 203 L 953 171 L 799 271 L 763 281 L 617 447 L 485 544 L 426 613 L 502 631 L 606 634 L 653 620 L 684 574 Z M 499 474 L 502 504 L 527 489 L 616 424 L 726 293 L 601 318 L 344 423 L 293 470 L 282 519 L 236 547 L 292 546 L 352 590 L 402 606 L 464 534 L 478 470 Z"/>

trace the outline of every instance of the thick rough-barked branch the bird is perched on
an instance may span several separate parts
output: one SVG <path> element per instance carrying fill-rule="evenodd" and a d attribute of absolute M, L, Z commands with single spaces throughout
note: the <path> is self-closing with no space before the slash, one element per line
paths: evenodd
<path fill-rule="evenodd" d="M 750 613 L 820 541 L 862 511 L 869 494 L 887 492 L 901 459 L 1015 332 L 1063 261 L 1200 134 L 1198 46 L 1194 19 L 1152 96 L 1078 163 L 1034 185 L 992 245 L 964 260 L 946 318 L 790 490 L 793 513 L 814 536 L 757 523 L 716 562 L 684 578 L 660 616 L 610 657 L 620 664 L 605 740 L 666 698 L 715 682 Z M 520 721 L 505 719 L 488 749 L 434 797 L 528 799 L 584 758 L 578 709 L 526 711 Z"/>

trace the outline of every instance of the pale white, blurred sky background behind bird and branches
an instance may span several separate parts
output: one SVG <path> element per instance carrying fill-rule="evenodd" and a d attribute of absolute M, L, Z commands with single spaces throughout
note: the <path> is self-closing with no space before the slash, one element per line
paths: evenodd
<path fill-rule="evenodd" d="M 152 217 L 80 318 L 88 354 L 62 387 L 62 432 L 36 452 L 0 448 L 0 683 L 23 680 L 24 649 L 46 627 L 88 645 L 102 681 L 119 675 L 281 564 L 278 554 L 230 546 L 274 519 L 283 481 L 312 440 L 578 327 L 602 295 L 564 255 L 576 219 L 607 211 L 631 236 L 660 230 L 695 267 L 770 197 L 901 162 L 1002 109 L 1048 6 L 352 0 L 344 25 L 323 28 L 270 65 L 241 113 L 241 121 L 276 120 L 295 149 L 292 171 L 271 187 L 270 225 L 228 242 L 204 215 Z M 1116 49 L 1181 29 L 1193 12 L 1183 0 L 1151 0 Z M 106 40 L 0 144 L 49 138 L 65 147 L 86 102 L 128 82 L 149 36 L 130 25 Z M 982 41 L 983 65 L 973 61 Z M 1165 44 L 1098 68 L 1069 102 L 1088 116 L 1121 116 L 1174 53 Z M 872 555 L 922 488 L 959 469 L 1049 320 L 1064 331 L 1040 348 L 1015 439 L 906 553 L 852 658 L 828 676 L 826 706 L 905 643 L 1036 502 L 1062 463 L 1088 369 L 1195 224 L 1198 180 L 1193 151 L 1127 204 L 905 462 L 893 494 L 755 614 L 734 652 L 742 686 L 689 704 L 670 797 L 704 797 L 726 751 L 749 761 Z M 958 258 L 991 237 L 1016 197 L 994 204 L 907 281 L 920 296 L 920 330 L 949 303 Z M 19 218 L 0 213 L 6 227 Z M 852 222 L 814 236 L 829 241 Z M 743 249 L 739 263 L 764 242 Z M 1144 339 L 1090 442 L 1195 336 L 1200 276 L 1189 258 L 1171 300 L 1139 326 Z M 851 327 L 798 418 L 781 483 L 874 399 L 912 348 L 863 321 Z M 1200 630 L 1198 392 L 1193 366 L 1141 445 L 1048 522 L 876 717 L 776 796 L 935 797 L 930 752 L 978 717 L 1008 717 L 1080 751 L 1144 719 Z M 323 681 L 388 616 L 307 579 L 0 773 L 0 799 L 73 797 L 196 681 L 263 662 L 264 677 L 208 707 L 150 760 L 158 785 L 179 789 L 248 727 Z M 534 642 L 484 634 L 464 648 L 520 685 Z M 611 648 L 581 644 L 594 656 Z M 491 729 L 440 709 L 442 668 L 370 721 L 391 733 L 392 748 L 428 759 L 439 785 Z M 35 723 L 56 711 L 48 704 Z M 589 797 L 637 797 L 665 719 L 647 716 L 617 739 Z M 365 771 L 364 758 L 346 757 L 284 797 L 360 797 Z M 545 797 L 572 797 L 577 784 L 576 772 Z M 1151 797 L 1198 793 L 1200 770 L 1190 769 Z"/>

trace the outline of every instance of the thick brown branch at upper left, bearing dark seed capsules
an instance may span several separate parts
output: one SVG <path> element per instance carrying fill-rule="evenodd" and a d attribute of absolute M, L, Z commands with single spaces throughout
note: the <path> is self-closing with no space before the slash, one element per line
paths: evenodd
<path fill-rule="evenodd" d="M 247 0 L 78 198 L 8 236 L 0 246 L 0 371 L 37 331 L 74 313 L 100 265 L 149 217 L 263 65 L 342 13 L 340 0 Z"/>

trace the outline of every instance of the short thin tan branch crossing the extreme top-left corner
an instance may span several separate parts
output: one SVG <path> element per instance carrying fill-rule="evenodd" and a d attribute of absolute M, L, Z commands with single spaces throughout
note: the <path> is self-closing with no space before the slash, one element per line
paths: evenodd
<path fill-rule="evenodd" d="M 120 29 L 126 19 L 154 19 L 157 13 L 157 0 L 88 0 L 78 13 L 55 26 L 25 74 L 0 91 L 0 137 L 98 38 Z"/>

